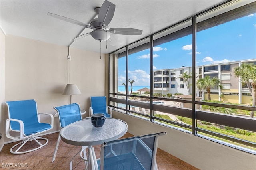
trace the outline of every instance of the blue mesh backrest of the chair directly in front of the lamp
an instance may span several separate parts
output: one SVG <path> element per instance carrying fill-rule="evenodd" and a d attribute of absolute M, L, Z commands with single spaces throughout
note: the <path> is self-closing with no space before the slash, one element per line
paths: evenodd
<path fill-rule="evenodd" d="M 54 107 L 54 109 L 58 112 L 61 127 L 82 120 L 80 107 L 77 103 Z"/>

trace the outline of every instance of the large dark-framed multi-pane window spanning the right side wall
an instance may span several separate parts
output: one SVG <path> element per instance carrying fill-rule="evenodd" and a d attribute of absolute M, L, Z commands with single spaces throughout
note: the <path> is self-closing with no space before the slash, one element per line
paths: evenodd
<path fill-rule="evenodd" d="M 256 2 L 234 3 L 110 54 L 109 105 L 256 154 L 256 99 L 245 79 L 254 77 L 239 72 L 256 67 Z"/>

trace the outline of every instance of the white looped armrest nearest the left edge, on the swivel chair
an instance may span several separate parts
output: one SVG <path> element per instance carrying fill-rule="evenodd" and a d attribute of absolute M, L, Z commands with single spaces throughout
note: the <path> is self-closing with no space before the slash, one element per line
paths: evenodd
<path fill-rule="evenodd" d="M 12 130 L 12 128 L 10 126 L 11 121 L 15 121 L 15 122 L 18 122 L 20 124 L 20 130 L 19 131 L 18 130 Z M 20 132 L 20 138 L 18 139 L 17 137 L 11 136 L 9 131 Z M 12 119 L 12 118 L 6 119 L 6 121 L 5 121 L 5 134 L 6 134 L 6 137 L 8 137 L 10 139 L 13 139 L 13 140 L 16 140 L 16 141 L 22 140 L 23 139 L 23 134 L 24 134 L 23 121 L 18 120 L 18 119 Z"/>

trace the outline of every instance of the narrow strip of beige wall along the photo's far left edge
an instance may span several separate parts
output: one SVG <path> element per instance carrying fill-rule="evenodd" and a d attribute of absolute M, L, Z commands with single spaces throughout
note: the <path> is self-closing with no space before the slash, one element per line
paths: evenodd
<path fill-rule="evenodd" d="M 0 133 L 2 134 L 2 139 L 0 140 L 0 150 L 4 146 L 4 70 L 5 70 L 5 34 L 0 29 Z"/>

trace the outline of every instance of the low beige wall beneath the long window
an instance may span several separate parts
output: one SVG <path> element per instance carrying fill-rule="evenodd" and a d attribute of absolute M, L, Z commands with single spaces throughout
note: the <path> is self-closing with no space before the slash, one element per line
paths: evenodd
<path fill-rule="evenodd" d="M 256 155 L 206 140 L 192 134 L 113 111 L 113 117 L 128 124 L 128 132 L 138 136 L 166 131 L 158 148 L 202 170 L 255 170 Z M 145 128 L 146 127 L 146 128 Z"/>

